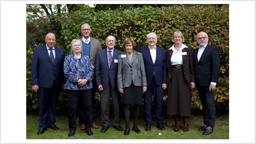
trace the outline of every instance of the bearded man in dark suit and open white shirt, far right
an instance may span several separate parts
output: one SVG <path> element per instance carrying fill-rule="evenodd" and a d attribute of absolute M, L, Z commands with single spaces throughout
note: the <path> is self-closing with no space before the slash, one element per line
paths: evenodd
<path fill-rule="evenodd" d="M 204 124 L 199 131 L 211 134 L 215 125 L 215 87 L 219 79 L 219 49 L 208 44 L 208 35 L 199 32 L 196 36 L 199 47 L 193 51 L 196 87 L 203 104 Z"/>

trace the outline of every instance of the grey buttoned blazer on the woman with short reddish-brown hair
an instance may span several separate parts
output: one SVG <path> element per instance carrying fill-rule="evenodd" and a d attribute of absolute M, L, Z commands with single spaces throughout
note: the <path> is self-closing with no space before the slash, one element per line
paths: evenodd
<path fill-rule="evenodd" d="M 121 55 L 126 55 L 124 51 Z M 147 86 L 147 78 L 142 53 L 133 50 L 131 64 L 129 58 L 118 56 L 117 88 Z"/>

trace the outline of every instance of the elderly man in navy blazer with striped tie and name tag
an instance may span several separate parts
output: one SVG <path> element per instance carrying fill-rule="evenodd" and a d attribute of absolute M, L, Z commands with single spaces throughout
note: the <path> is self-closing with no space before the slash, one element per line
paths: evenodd
<path fill-rule="evenodd" d="M 106 39 L 107 48 L 97 52 L 96 56 L 96 84 L 100 91 L 101 119 L 106 132 L 111 124 L 109 119 L 110 93 L 112 95 L 114 119 L 113 125 L 117 131 L 122 131 L 120 125 L 120 93 L 117 91 L 117 66 L 118 56 L 123 53 L 115 49 L 116 38 L 108 36 Z"/>

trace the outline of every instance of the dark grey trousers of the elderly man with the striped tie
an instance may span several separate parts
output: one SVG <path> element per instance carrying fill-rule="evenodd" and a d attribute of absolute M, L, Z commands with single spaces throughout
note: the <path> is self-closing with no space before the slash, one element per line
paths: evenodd
<path fill-rule="evenodd" d="M 103 121 L 103 126 L 109 127 L 109 108 L 110 108 L 110 94 L 112 96 L 113 108 L 114 108 L 114 119 L 113 125 L 120 125 L 120 93 L 119 91 L 114 91 L 111 84 L 108 83 L 106 89 L 100 92 L 100 104 L 101 104 L 101 119 Z"/>

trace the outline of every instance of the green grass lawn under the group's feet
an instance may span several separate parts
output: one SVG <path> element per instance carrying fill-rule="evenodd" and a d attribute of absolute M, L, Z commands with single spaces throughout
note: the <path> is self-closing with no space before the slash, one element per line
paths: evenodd
<path fill-rule="evenodd" d="M 78 117 L 77 119 L 78 120 Z M 125 121 L 124 117 L 121 117 L 121 126 L 123 127 L 123 131 L 116 131 L 113 128 L 113 125 L 110 125 L 110 128 L 107 132 L 101 133 L 101 119 L 98 117 L 96 122 L 100 124 L 99 129 L 92 129 L 93 135 L 88 136 L 84 131 L 79 129 L 79 124 L 77 122 L 77 130 L 74 136 L 68 137 L 69 128 L 68 128 L 68 120 L 66 116 L 57 115 L 56 116 L 56 125 L 60 128 L 60 130 L 52 130 L 47 129 L 43 134 L 37 135 L 37 131 L 39 129 L 38 115 L 28 113 L 27 114 L 27 139 L 229 139 L 229 116 L 228 114 L 217 114 L 216 116 L 216 124 L 214 131 L 211 135 L 203 135 L 203 131 L 197 131 L 198 128 L 203 124 L 203 116 L 201 114 L 196 116 L 191 116 L 191 120 L 189 122 L 189 131 L 183 132 L 181 124 L 181 129 L 179 132 L 174 132 L 171 127 L 173 123 L 173 119 L 171 116 L 166 116 L 163 120 L 163 124 L 165 126 L 165 131 L 161 131 L 156 128 L 155 119 L 152 120 L 151 131 L 145 131 L 145 121 L 143 117 L 139 118 L 138 128 L 141 133 L 137 134 L 132 131 L 132 115 L 130 120 L 131 131 L 129 135 L 124 135 L 125 129 Z"/>

